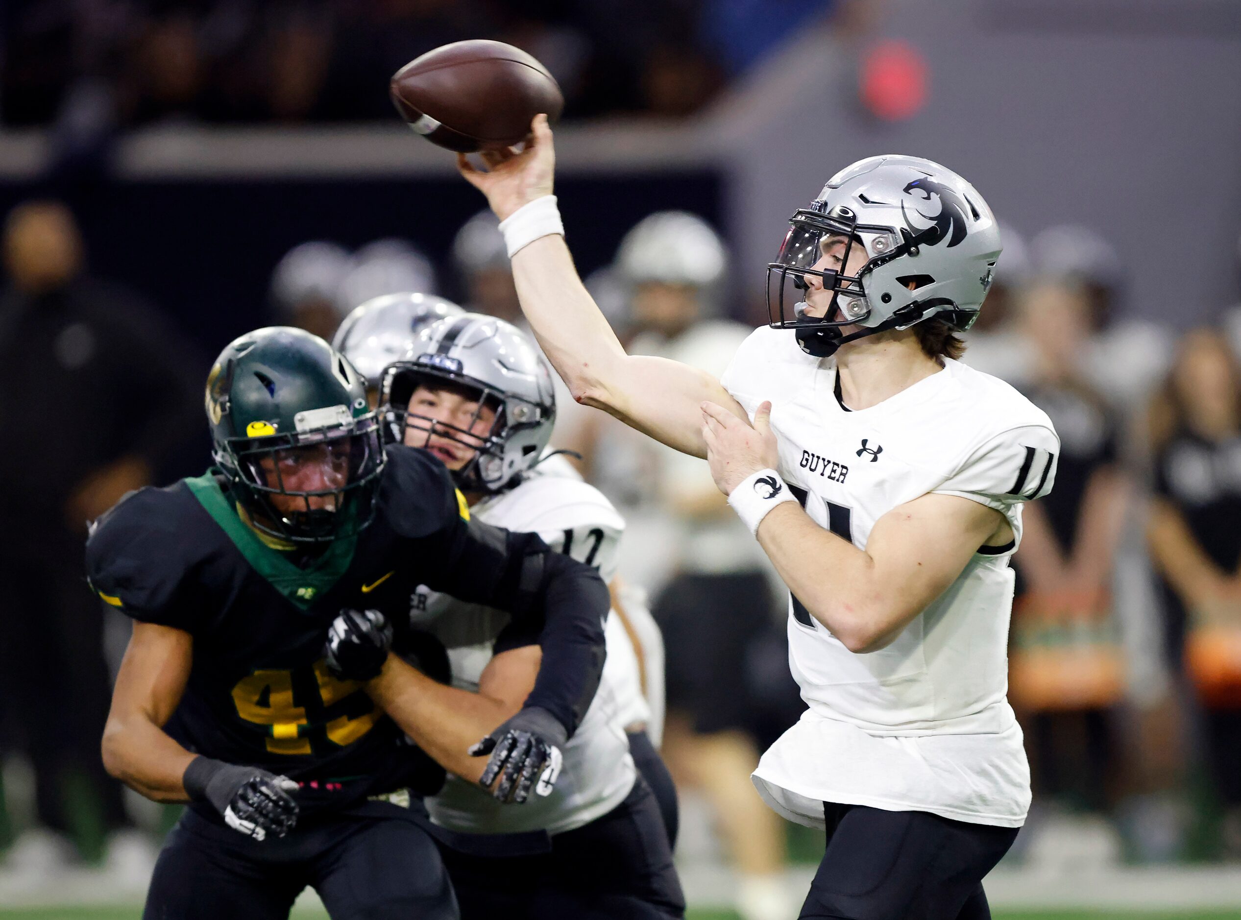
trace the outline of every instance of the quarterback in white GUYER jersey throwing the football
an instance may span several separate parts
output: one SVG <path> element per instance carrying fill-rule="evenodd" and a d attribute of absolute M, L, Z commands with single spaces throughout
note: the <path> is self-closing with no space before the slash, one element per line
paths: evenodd
<path fill-rule="evenodd" d="M 580 401 L 706 457 L 798 598 L 809 709 L 755 782 L 827 828 L 802 916 L 989 916 L 982 879 L 1030 801 L 1005 700 L 1009 557 L 1060 449 L 1046 415 L 954 360 L 1000 253 L 990 210 L 923 159 L 836 174 L 768 266 L 772 328 L 720 381 L 625 355 L 562 238 L 546 118 L 532 130 L 488 171 L 459 166 L 503 220 L 544 351 Z"/>

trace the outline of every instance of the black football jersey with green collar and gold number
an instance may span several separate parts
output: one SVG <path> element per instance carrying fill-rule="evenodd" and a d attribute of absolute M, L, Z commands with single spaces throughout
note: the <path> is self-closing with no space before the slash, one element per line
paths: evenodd
<path fill-rule="evenodd" d="M 520 607 L 530 535 L 470 521 L 444 467 L 408 447 L 387 449 L 372 523 L 307 567 L 264 543 L 226 489 L 210 473 L 141 489 L 101 519 L 87 544 L 91 585 L 107 603 L 194 637 L 169 734 L 205 756 L 297 780 L 303 801 L 438 788 L 442 770 L 361 685 L 328 673 L 328 626 L 341 608 L 375 608 L 400 631 L 418 585 Z M 515 628 L 535 642 L 530 620 L 515 617 Z M 398 634 L 422 649 L 434 677 L 436 659 L 447 669 L 447 658 L 422 639 Z"/>

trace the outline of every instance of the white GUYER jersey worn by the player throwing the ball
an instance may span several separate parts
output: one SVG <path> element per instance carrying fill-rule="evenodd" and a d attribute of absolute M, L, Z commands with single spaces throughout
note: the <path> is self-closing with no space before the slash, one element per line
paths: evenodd
<path fill-rule="evenodd" d="M 833 360 L 763 328 L 722 380 L 751 417 L 772 401 L 779 472 L 817 524 L 865 549 L 879 518 L 939 493 L 999 510 L 1014 539 L 982 548 L 877 652 L 850 652 L 791 601 L 789 667 L 809 709 L 763 755 L 755 782 L 786 817 L 819 827 L 824 801 L 1020 827 L 1030 773 L 1005 698 L 1009 559 L 1021 504 L 1055 478 L 1055 430 L 1011 386 L 953 360 L 856 412 L 836 400 L 835 376 Z"/>

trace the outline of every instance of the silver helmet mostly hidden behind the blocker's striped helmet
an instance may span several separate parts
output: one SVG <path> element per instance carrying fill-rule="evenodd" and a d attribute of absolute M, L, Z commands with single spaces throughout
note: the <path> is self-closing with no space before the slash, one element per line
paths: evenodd
<path fill-rule="evenodd" d="M 345 317 L 331 346 L 350 360 L 370 386 L 379 387 L 383 369 L 410 349 L 423 327 L 464 314 L 452 300 L 434 294 L 382 294 Z"/>

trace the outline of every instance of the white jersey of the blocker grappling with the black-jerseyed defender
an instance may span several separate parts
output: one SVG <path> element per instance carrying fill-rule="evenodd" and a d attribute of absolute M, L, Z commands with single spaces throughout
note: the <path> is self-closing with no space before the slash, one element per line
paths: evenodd
<path fill-rule="evenodd" d="M 537 533 L 553 550 L 596 566 L 604 581 L 616 575 L 624 520 L 562 458 L 545 461 L 520 485 L 483 499 L 470 513 L 495 526 Z M 412 600 L 411 623 L 444 643 L 453 685 L 478 690 L 509 615 L 426 586 Z M 531 796 L 521 806 L 501 805 L 478 785 L 449 775 L 441 793 L 427 798 L 432 821 L 465 833 L 545 829 L 556 834 L 582 827 L 624 801 L 637 776 L 624 726 L 645 721 L 648 713 L 633 647 L 623 626 L 613 621 L 617 617 L 609 616 L 604 629 L 608 654 L 599 689 L 565 746 L 565 766 L 552 793 Z"/>

